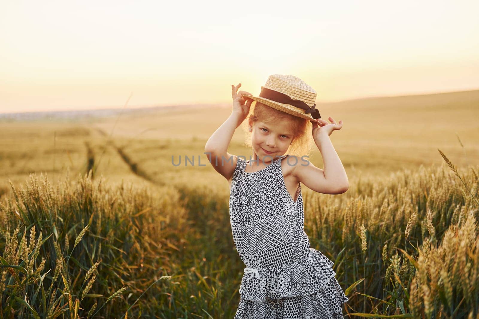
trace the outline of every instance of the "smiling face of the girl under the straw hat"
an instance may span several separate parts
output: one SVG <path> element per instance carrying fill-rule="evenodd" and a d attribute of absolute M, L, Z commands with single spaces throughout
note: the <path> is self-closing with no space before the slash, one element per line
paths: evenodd
<path fill-rule="evenodd" d="M 271 157 L 265 159 L 269 162 L 274 156 L 285 154 L 293 140 L 293 132 L 290 131 L 286 123 L 266 124 L 257 121 L 252 123 L 251 126 L 253 151 L 261 160 L 268 155 Z"/>

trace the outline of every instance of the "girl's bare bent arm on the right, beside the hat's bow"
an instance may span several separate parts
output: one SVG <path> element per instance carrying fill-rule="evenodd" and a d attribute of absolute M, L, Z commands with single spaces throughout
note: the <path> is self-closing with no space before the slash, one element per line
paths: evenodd
<path fill-rule="evenodd" d="M 292 174 L 306 187 L 323 194 L 342 194 L 349 188 L 348 176 L 329 138 L 333 130 L 334 127 L 319 129 L 313 123 L 314 143 L 322 155 L 324 170 L 311 162 L 308 165 L 296 165 L 292 170 Z"/>

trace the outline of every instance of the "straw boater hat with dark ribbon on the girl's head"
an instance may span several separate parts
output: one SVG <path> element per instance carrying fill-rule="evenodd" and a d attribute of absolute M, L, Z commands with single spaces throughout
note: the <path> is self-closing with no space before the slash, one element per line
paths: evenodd
<path fill-rule="evenodd" d="M 319 110 L 316 109 L 316 91 L 299 77 L 292 75 L 270 75 L 257 97 L 243 95 L 243 98 L 261 102 L 306 120 L 321 118 Z"/>

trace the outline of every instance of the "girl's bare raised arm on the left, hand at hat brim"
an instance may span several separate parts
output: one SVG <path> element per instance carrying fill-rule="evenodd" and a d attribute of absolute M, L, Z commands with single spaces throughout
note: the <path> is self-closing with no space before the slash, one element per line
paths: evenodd
<path fill-rule="evenodd" d="M 237 160 L 236 156 L 228 153 L 228 146 L 231 143 L 233 133 L 248 116 L 252 102 L 251 99 L 246 101 L 246 99 L 242 98 L 243 95 L 251 95 L 251 93 L 246 91 L 236 93 L 240 86 L 241 83 L 236 87 L 231 85 L 233 110 L 228 119 L 221 124 L 205 144 L 205 154 L 208 157 L 208 161 L 228 181 L 233 176 Z"/>

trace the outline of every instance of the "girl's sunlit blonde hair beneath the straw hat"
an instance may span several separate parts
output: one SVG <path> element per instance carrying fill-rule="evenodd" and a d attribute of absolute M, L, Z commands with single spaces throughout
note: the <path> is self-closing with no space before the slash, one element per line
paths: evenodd
<path fill-rule="evenodd" d="M 278 121 L 286 122 L 290 130 L 293 132 L 293 144 L 289 145 L 286 154 L 298 157 L 303 155 L 309 156 L 311 154 L 314 140 L 311 134 L 312 124 L 310 121 L 276 110 L 258 101 L 253 101 L 253 103 L 251 103 L 250 114 L 246 119 L 251 119 L 253 122 L 262 121 L 263 123 L 273 125 Z M 244 125 L 245 122 L 246 125 Z M 244 121 L 242 129 L 246 133 L 245 146 L 252 150 L 252 132 L 248 131 L 248 126 L 248 121 Z"/>

